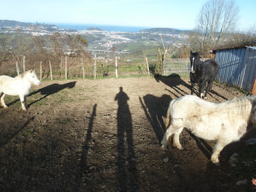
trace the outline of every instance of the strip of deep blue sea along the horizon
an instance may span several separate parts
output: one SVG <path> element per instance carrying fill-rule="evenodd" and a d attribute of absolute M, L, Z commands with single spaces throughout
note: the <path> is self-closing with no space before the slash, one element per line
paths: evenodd
<path fill-rule="evenodd" d="M 68 23 L 54 23 L 61 29 L 76 29 L 79 31 L 85 30 L 90 27 L 98 27 L 103 31 L 112 32 L 139 32 L 142 29 L 151 29 L 153 27 L 139 27 L 139 26 L 113 26 L 113 25 L 93 25 L 93 24 L 68 24 Z"/>

